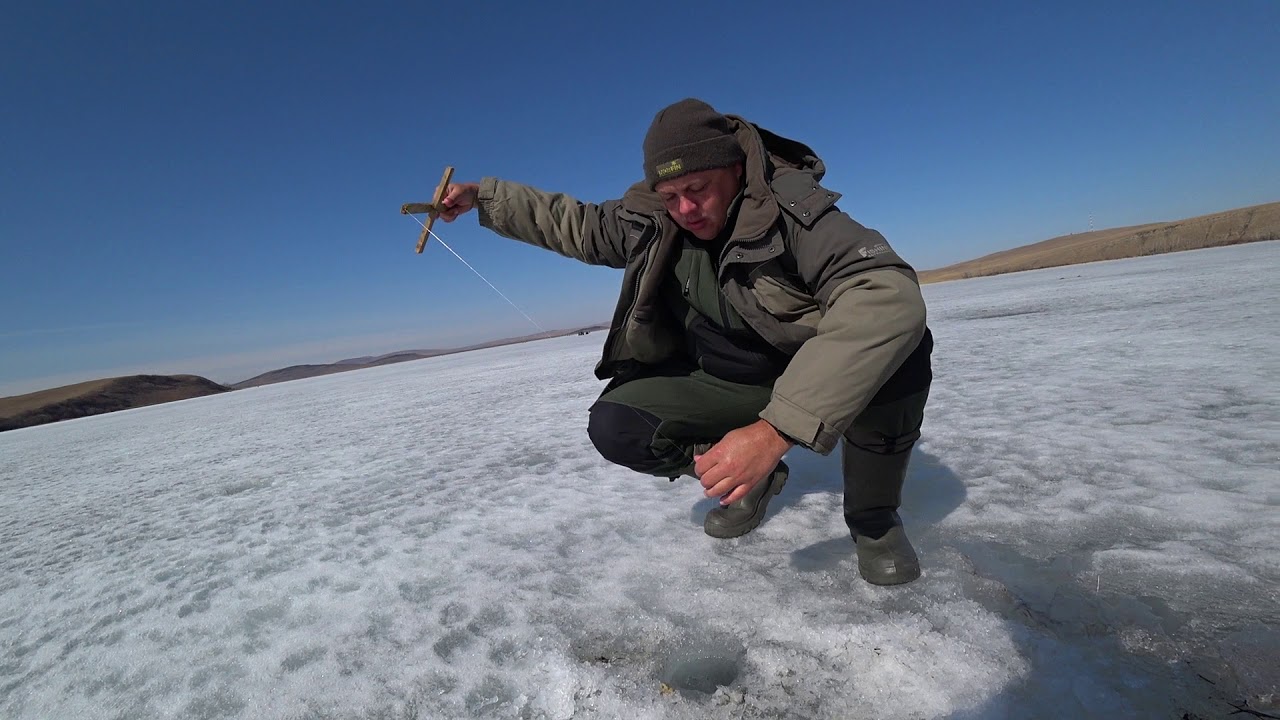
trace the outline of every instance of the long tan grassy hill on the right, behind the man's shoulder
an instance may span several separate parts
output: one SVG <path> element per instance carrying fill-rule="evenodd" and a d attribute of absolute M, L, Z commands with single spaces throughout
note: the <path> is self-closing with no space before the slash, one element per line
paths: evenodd
<path fill-rule="evenodd" d="M 1055 237 L 920 273 L 920 282 L 942 282 L 1098 260 L 1119 260 L 1243 242 L 1280 240 L 1280 202 Z"/>

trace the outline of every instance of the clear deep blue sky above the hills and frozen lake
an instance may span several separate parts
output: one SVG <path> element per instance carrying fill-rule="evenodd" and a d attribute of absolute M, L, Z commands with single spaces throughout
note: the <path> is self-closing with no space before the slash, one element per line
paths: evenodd
<path fill-rule="evenodd" d="M 6 5 L 0 395 L 532 332 L 401 204 L 616 197 L 686 96 L 919 269 L 1280 200 L 1274 0 Z M 438 229 L 541 325 L 612 314 L 614 270 Z"/>

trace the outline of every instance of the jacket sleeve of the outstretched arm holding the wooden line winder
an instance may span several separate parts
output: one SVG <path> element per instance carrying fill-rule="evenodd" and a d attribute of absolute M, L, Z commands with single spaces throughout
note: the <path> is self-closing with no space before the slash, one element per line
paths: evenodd
<path fill-rule="evenodd" d="M 476 197 L 480 224 L 493 232 L 591 265 L 623 268 L 626 238 L 620 201 L 579 202 L 568 195 L 484 178 Z"/>

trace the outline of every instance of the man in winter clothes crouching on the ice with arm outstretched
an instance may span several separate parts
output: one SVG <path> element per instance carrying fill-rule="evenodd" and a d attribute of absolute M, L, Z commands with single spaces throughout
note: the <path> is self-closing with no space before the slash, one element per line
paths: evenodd
<path fill-rule="evenodd" d="M 932 336 L 915 273 L 836 208 L 808 146 L 694 99 L 660 110 L 645 179 L 584 204 L 485 178 L 442 218 L 623 269 L 588 433 L 609 461 L 698 478 L 704 529 L 753 530 L 795 445 L 842 446 L 845 520 L 870 583 L 919 577 L 897 507 L 919 438 Z"/>

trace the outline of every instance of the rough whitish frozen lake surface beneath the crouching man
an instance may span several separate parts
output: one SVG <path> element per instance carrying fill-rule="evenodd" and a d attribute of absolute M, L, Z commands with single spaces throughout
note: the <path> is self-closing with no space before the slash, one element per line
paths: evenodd
<path fill-rule="evenodd" d="M 904 515 L 600 460 L 603 334 L 0 434 L 0 717 L 1221 717 L 1280 680 L 1280 243 L 929 286 Z"/>

